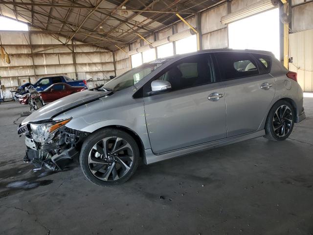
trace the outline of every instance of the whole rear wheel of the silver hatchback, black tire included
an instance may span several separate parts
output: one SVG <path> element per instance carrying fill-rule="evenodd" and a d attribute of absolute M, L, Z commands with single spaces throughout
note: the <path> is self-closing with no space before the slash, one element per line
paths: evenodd
<path fill-rule="evenodd" d="M 282 108 L 280 108 L 280 107 L 282 107 Z M 276 111 L 278 111 L 278 113 L 282 111 L 283 114 L 285 115 L 284 107 L 288 107 L 288 109 L 286 108 L 285 111 L 286 110 L 288 111 L 288 112 L 286 111 L 287 112 L 286 115 L 288 115 L 287 118 L 289 118 L 289 119 L 283 118 L 283 121 L 282 121 L 282 120 L 280 120 L 280 117 L 278 117 L 275 113 L 276 113 Z M 279 116 L 280 116 L 280 114 L 279 114 Z M 276 117 L 275 118 L 276 120 L 274 120 L 274 115 Z M 280 123 L 277 120 L 279 120 Z M 291 121 L 289 121 L 289 120 L 291 120 Z M 295 114 L 294 114 L 292 105 L 289 102 L 285 101 L 285 100 L 277 101 L 271 107 L 271 109 L 268 112 L 268 117 L 267 117 L 267 120 L 266 120 L 266 123 L 265 123 L 265 133 L 266 133 L 266 135 L 264 137 L 267 138 L 268 140 L 272 140 L 272 141 L 284 141 L 284 140 L 286 140 L 290 136 L 290 134 L 292 132 L 292 129 L 293 129 L 293 126 L 294 126 L 294 120 L 295 120 Z M 279 130 L 278 130 L 278 128 L 277 128 L 275 130 L 274 129 L 275 123 L 276 123 L 277 127 L 279 127 L 280 124 L 284 125 L 284 123 L 285 123 L 285 129 L 282 130 L 282 128 L 279 128 Z"/>

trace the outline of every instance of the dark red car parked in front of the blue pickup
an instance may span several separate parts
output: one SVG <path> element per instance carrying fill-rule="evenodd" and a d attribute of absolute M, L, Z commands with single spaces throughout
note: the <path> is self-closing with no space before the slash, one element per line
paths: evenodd
<path fill-rule="evenodd" d="M 72 87 L 66 83 L 55 83 L 40 92 L 40 96 L 45 103 L 49 103 L 69 94 L 85 90 L 85 87 Z"/>

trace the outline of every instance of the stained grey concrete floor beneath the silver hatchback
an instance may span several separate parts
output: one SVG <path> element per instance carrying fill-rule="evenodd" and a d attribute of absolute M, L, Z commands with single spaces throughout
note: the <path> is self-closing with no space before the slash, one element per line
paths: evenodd
<path fill-rule="evenodd" d="M 24 164 L 18 103 L 0 104 L 0 234 L 312 235 L 313 97 L 290 139 L 240 142 L 153 165 L 98 187 L 78 164 Z"/>

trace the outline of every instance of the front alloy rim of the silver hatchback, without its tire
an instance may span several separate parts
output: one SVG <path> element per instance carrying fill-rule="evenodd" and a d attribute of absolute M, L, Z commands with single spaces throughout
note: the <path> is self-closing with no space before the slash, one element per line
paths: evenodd
<path fill-rule="evenodd" d="M 134 151 L 126 140 L 107 137 L 93 145 L 88 156 L 91 173 L 103 181 L 124 177 L 134 163 Z"/>

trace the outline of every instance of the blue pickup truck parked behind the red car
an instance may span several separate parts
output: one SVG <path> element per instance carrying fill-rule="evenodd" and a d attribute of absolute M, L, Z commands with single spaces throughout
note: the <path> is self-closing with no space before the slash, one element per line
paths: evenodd
<path fill-rule="evenodd" d="M 54 77 L 43 77 L 39 79 L 35 84 L 25 83 L 19 87 L 23 90 L 25 87 L 32 85 L 38 92 L 44 91 L 48 86 L 54 83 L 67 83 L 70 86 L 74 87 L 85 87 L 87 88 L 86 80 L 73 80 L 67 76 L 54 76 Z"/>

